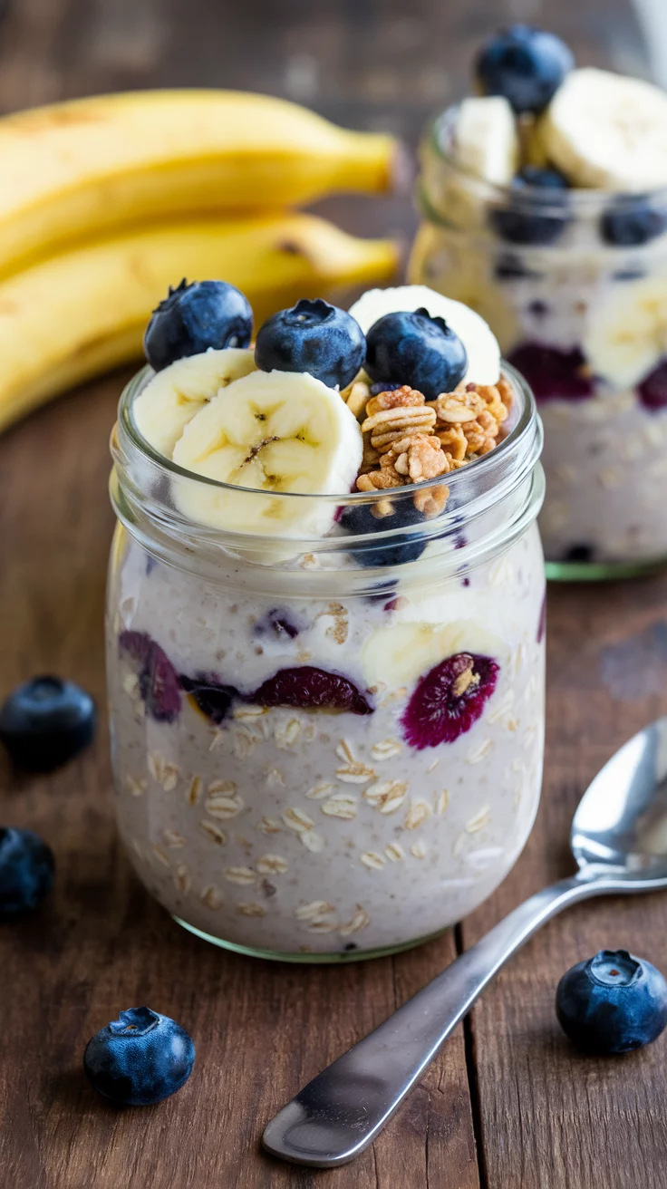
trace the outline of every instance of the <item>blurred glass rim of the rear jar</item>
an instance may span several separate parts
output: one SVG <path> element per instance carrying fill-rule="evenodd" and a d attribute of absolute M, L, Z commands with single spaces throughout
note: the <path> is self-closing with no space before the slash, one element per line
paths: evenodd
<path fill-rule="evenodd" d="M 567 207 L 570 215 L 581 219 L 592 219 L 609 208 L 610 203 L 618 203 L 630 212 L 635 205 L 644 205 L 650 201 L 653 206 L 667 208 L 667 187 L 654 190 L 642 190 L 641 193 L 628 193 L 621 190 L 603 190 L 593 187 L 572 188 L 556 190 L 554 194 L 537 185 L 522 185 L 521 189 L 512 188 L 497 182 L 489 182 L 473 170 L 466 169 L 458 161 L 454 152 L 454 126 L 459 105 L 454 103 L 435 117 L 427 126 L 422 141 L 422 152 L 432 152 L 435 158 L 447 169 L 451 169 L 461 181 L 474 189 L 477 196 L 490 206 L 511 206 L 514 209 L 524 207 L 526 209 L 537 209 L 540 214 L 560 214 Z M 560 200 L 559 200 L 560 199 Z M 428 203 L 428 196 L 426 199 Z M 436 212 L 435 212 L 436 213 Z"/>

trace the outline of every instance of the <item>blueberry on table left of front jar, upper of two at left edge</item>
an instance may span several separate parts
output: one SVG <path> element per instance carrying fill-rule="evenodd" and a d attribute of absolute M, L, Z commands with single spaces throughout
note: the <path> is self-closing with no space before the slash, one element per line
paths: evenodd
<path fill-rule="evenodd" d="M 0 740 L 21 768 L 50 772 L 88 747 L 96 723 L 93 698 L 74 681 L 34 677 L 0 709 Z"/>

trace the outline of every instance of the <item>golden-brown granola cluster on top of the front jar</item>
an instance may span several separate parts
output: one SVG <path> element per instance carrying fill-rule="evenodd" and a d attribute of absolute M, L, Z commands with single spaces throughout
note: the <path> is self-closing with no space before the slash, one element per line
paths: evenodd
<path fill-rule="evenodd" d="M 496 446 L 511 408 L 504 378 L 490 385 L 459 384 L 435 401 L 409 384 L 371 396 L 370 385 L 357 379 L 342 396 L 364 435 L 359 491 L 426 483 L 482 458 Z M 415 503 L 434 516 L 448 495 L 442 484 L 417 492 Z"/>

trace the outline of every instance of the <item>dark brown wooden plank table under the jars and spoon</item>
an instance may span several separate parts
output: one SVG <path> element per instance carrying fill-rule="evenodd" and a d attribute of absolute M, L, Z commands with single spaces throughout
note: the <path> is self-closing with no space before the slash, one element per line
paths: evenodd
<path fill-rule="evenodd" d="M 515 0 L 506 12 L 539 19 L 540 7 Z M 414 140 L 427 112 L 463 89 L 496 8 L 15 0 L 0 23 L 0 107 L 115 87 L 240 86 Z M 581 59 L 641 69 L 625 0 L 561 0 L 559 13 Z M 407 200 L 326 206 L 352 229 L 413 227 Z M 0 441 L 2 694 L 55 671 L 103 706 L 107 436 L 122 378 L 61 400 Z M 666 575 L 549 591 L 547 775 L 530 842 L 489 904 L 395 958 L 295 968 L 227 955 L 182 931 L 121 854 L 103 723 L 95 747 L 52 776 L 19 779 L 2 767 L 1 818 L 43 833 L 58 863 L 44 911 L 0 936 L 2 1189 L 665 1189 L 667 1039 L 624 1059 L 584 1059 L 553 1008 L 562 971 L 602 946 L 667 968 L 657 897 L 592 902 L 541 932 L 353 1165 L 290 1168 L 260 1153 L 259 1135 L 325 1063 L 570 870 L 568 823 L 586 782 L 667 710 L 666 619 Z M 144 1002 L 191 1031 L 196 1070 L 156 1109 L 112 1111 L 84 1081 L 83 1048 L 119 1008 Z"/>

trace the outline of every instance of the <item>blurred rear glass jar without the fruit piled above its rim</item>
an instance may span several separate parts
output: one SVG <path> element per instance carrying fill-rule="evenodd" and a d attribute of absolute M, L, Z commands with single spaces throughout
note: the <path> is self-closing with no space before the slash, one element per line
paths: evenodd
<path fill-rule="evenodd" d="M 667 193 L 492 185 L 427 132 L 410 279 L 477 309 L 545 427 L 550 578 L 667 560 Z"/>

